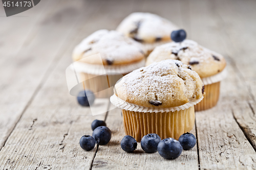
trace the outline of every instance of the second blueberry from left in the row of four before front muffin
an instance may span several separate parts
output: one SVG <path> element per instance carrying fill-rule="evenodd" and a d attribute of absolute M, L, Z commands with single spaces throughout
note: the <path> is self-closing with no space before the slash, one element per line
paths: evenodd
<path fill-rule="evenodd" d="M 157 152 L 157 145 L 161 141 L 161 138 L 155 134 L 147 134 L 141 139 L 141 148 L 148 153 Z"/>

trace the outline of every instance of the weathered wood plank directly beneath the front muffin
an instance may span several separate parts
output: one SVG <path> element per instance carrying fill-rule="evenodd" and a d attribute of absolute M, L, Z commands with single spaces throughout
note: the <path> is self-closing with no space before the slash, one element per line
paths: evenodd
<path fill-rule="evenodd" d="M 114 108 L 113 105 L 111 107 Z M 158 152 L 145 153 L 140 142 L 134 153 L 124 152 L 120 147 L 125 133 L 119 108 L 109 111 L 106 124 L 112 132 L 112 138 L 108 144 L 99 146 L 92 169 L 198 169 L 197 147 L 189 151 L 183 150 L 174 160 L 164 159 Z M 196 133 L 195 128 L 191 133 Z"/>

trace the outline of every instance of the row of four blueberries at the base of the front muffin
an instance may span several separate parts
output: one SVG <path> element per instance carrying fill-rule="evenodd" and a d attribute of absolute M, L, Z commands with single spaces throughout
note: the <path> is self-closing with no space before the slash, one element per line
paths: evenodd
<path fill-rule="evenodd" d="M 157 152 L 166 159 L 175 159 L 180 156 L 182 150 L 189 150 L 195 147 L 197 142 L 196 137 L 191 133 L 184 133 L 179 137 L 179 140 L 173 138 L 161 138 L 155 134 L 147 134 L 141 139 L 141 148 L 147 153 Z M 137 149 L 137 141 L 129 135 L 123 137 L 121 148 L 125 152 L 133 152 Z"/>

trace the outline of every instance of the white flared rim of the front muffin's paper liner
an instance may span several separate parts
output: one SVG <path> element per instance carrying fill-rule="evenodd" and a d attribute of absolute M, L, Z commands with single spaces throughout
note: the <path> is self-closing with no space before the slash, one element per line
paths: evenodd
<path fill-rule="evenodd" d="M 188 109 L 189 107 L 198 104 L 200 101 L 202 101 L 204 98 L 204 96 L 202 96 L 202 98 L 200 99 L 191 99 L 188 103 L 181 105 L 181 106 L 177 106 L 177 107 L 169 107 L 169 108 L 156 108 L 156 107 L 143 107 L 143 106 L 138 106 L 135 104 L 131 104 L 128 102 L 125 102 L 123 100 L 121 100 L 120 98 L 118 98 L 118 96 L 116 96 L 116 94 L 112 95 L 110 97 L 110 102 L 121 109 L 124 110 L 129 110 L 129 111 L 135 111 L 135 112 L 169 112 L 169 111 L 180 111 L 180 110 L 184 110 L 184 109 Z"/>

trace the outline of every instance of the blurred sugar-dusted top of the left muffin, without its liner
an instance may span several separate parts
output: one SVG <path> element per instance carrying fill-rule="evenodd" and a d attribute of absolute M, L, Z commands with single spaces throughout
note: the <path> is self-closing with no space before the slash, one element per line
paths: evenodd
<path fill-rule="evenodd" d="M 100 54 L 102 61 L 86 57 Z M 132 64 L 144 59 L 143 47 L 132 38 L 117 31 L 98 30 L 83 39 L 73 51 L 73 60 L 88 64 L 120 65 Z"/>

